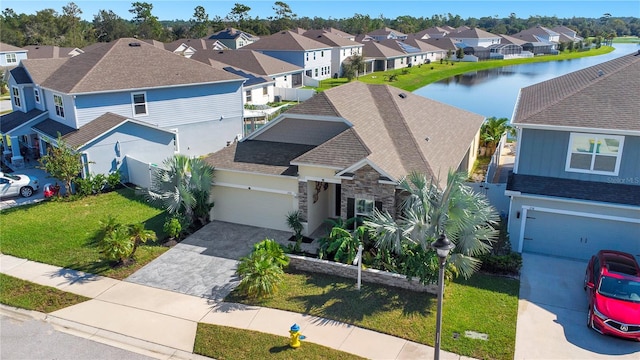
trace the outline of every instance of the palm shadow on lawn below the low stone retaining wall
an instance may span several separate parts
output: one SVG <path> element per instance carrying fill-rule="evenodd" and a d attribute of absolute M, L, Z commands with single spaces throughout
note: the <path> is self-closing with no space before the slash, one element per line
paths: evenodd
<path fill-rule="evenodd" d="M 363 283 L 361 290 L 358 290 L 355 288 L 355 281 L 349 279 L 336 282 L 336 277 L 296 274 L 305 276 L 307 284 L 325 289 L 322 294 L 290 298 L 291 301 L 304 303 L 305 313 L 314 316 L 352 323 L 362 321 L 376 312 L 396 309 L 402 309 L 405 316 L 428 316 L 435 311 L 437 299 L 432 294 L 367 283 Z"/>

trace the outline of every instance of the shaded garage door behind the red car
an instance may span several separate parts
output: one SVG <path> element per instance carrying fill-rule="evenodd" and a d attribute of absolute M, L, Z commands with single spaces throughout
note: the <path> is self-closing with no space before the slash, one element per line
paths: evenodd
<path fill-rule="evenodd" d="M 524 252 L 588 260 L 601 249 L 640 255 L 640 224 L 527 211 Z"/>

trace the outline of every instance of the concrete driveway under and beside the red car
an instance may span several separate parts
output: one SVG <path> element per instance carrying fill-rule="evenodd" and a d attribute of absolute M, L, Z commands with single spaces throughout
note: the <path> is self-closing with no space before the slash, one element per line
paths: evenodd
<path fill-rule="evenodd" d="M 640 342 L 587 328 L 586 262 L 523 254 L 514 358 L 640 359 Z"/>

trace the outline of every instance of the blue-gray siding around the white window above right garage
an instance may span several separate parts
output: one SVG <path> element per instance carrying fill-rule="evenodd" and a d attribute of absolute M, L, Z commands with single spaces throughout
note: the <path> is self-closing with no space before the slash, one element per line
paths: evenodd
<path fill-rule="evenodd" d="M 625 136 L 618 176 L 565 171 L 569 132 L 523 129 L 518 153 L 518 173 L 640 186 L 640 137 Z"/>

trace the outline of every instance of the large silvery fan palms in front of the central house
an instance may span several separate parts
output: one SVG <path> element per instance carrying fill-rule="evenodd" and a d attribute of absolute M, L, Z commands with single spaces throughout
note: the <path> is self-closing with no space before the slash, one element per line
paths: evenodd
<path fill-rule="evenodd" d="M 400 182 L 400 188 L 407 195 L 400 206 L 400 217 L 394 219 L 388 212 L 375 209 L 374 215 L 364 223 L 370 228 L 376 247 L 403 254 L 407 249 L 415 251 L 419 245 L 419 252 L 412 252 L 411 256 L 427 259 L 425 253 L 435 253 L 431 243 L 445 233 L 456 245 L 450 266 L 455 273 L 470 277 L 480 267 L 476 256 L 491 250 L 497 235 L 492 225 L 499 217 L 484 195 L 464 185 L 465 179 L 464 173 L 450 173 L 446 188 L 440 190 L 437 182 L 427 180 L 425 175 L 409 174 Z M 411 266 L 429 268 L 431 265 L 428 260 L 413 260 L 408 261 Z"/>

